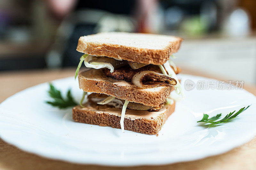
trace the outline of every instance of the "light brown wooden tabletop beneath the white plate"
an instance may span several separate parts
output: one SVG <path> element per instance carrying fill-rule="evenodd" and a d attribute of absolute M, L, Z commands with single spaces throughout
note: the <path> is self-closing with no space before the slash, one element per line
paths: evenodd
<path fill-rule="evenodd" d="M 75 68 L 51 71 L 41 70 L 0 73 L 0 102 L 20 90 L 46 81 L 73 76 L 74 72 Z M 183 69 L 183 73 L 225 80 L 221 77 L 203 75 L 202 73 L 196 73 L 195 71 L 190 70 Z M 256 95 L 256 87 L 245 84 L 244 88 Z M 124 168 L 77 165 L 42 158 L 37 155 L 21 151 L 0 139 L 0 169 L 256 169 L 256 139 L 254 138 L 250 142 L 227 153 L 192 162 L 176 163 L 164 166 L 138 166 Z"/>

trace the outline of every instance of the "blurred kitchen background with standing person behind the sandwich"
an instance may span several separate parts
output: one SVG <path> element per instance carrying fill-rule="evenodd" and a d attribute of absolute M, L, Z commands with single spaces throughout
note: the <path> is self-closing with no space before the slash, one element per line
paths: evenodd
<path fill-rule="evenodd" d="M 78 38 L 102 31 L 180 36 L 176 65 L 256 84 L 256 0 L 1 0 L 0 73 L 75 72 Z"/>

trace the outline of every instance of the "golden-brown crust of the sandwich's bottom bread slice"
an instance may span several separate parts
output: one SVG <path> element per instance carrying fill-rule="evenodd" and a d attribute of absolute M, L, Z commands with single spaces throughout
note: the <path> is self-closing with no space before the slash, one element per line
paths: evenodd
<path fill-rule="evenodd" d="M 162 126 L 164 125 L 167 118 L 174 112 L 175 103 L 168 106 L 164 112 L 159 114 L 154 119 L 127 119 L 124 118 L 124 129 L 131 130 L 134 132 L 150 134 L 150 135 L 157 135 L 158 132 L 161 130 Z M 136 112 L 136 110 L 134 110 Z M 120 111 L 121 114 L 121 111 Z M 101 111 L 101 113 L 82 108 L 81 106 L 77 105 L 72 110 L 73 120 L 76 122 L 87 123 L 92 125 L 99 125 L 99 126 L 109 126 L 112 128 L 121 128 L 120 126 L 120 116 L 112 115 Z"/>

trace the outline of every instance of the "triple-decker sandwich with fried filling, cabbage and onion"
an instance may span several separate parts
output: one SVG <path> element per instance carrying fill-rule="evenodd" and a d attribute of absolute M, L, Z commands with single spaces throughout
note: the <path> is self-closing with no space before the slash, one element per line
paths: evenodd
<path fill-rule="evenodd" d="M 76 77 L 84 96 L 73 108 L 73 120 L 158 134 L 174 112 L 172 91 L 184 98 L 176 76 L 180 69 L 172 62 L 181 41 L 175 36 L 123 32 L 80 37 L 76 50 L 84 55 Z M 78 74 L 83 63 L 91 69 Z"/>

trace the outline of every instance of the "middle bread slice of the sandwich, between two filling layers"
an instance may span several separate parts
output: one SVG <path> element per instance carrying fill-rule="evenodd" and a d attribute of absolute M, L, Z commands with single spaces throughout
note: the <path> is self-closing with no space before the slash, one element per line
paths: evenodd
<path fill-rule="evenodd" d="M 165 102 L 172 86 L 159 86 L 140 89 L 123 80 L 115 80 L 102 72 L 102 69 L 91 69 L 79 73 L 79 87 L 86 92 L 102 93 L 122 100 L 157 107 Z"/>

